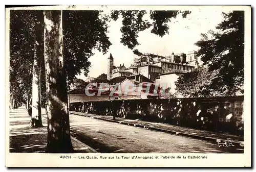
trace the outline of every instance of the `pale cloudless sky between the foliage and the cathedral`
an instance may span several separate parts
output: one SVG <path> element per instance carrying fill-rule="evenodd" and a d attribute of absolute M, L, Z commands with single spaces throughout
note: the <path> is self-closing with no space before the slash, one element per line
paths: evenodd
<path fill-rule="evenodd" d="M 136 46 L 136 48 L 141 53 L 158 54 L 160 56 L 168 56 L 172 52 L 175 54 L 187 54 L 189 51 L 196 51 L 198 47 L 195 43 L 200 40 L 200 34 L 206 33 L 209 30 L 215 30 L 217 24 L 223 19 L 222 12 L 227 11 L 223 11 L 221 8 L 199 8 L 191 10 L 191 14 L 187 15 L 186 18 L 182 18 L 179 15 L 168 23 L 169 34 L 163 37 L 152 34 L 151 29 L 140 32 L 138 37 L 140 45 Z M 147 17 L 145 16 L 145 18 Z M 129 67 L 133 63 L 133 59 L 137 57 L 133 54 L 132 50 L 120 43 L 122 18 L 119 18 L 117 21 L 111 21 L 109 26 L 108 36 L 112 45 L 105 55 L 94 51 L 95 55 L 89 59 L 91 67 L 88 77 L 98 77 L 102 73 L 106 73 L 108 67 L 107 60 L 110 53 L 114 58 L 115 66 L 124 64 L 125 67 Z M 77 78 L 85 80 L 87 77 L 79 75 Z"/>

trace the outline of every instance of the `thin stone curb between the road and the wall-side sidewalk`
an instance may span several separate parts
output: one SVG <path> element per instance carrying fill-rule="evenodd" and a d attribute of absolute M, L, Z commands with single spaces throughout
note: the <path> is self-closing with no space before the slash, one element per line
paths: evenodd
<path fill-rule="evenodd" d="M 87 115 L 81 115 L 81 114 L 76 114 L 76 113 L 72 113 L 72 112 L 70 112 L 70 113 L 74 114 L 74 115 L 90 117 L 90 118 L 105 120 L 105 121 L 109 121 L 109 122 L 115 122 L 117 124 L 122 124 L 122 125 L 127 125 L 127 126 L 140 127 L 140 128 L 145 128 L 145 129 L 148 129 L 148 130 L 159 131 L 159 132 L 169 133 L 169 134 L 173 134 L 173 135 L 180 135 L 180 136 L 185 136 L 185 137 L 190 137 L 190 138 L 195 138 L 195 139 L 206 140 L 206 141 L 210 141 L 212 143 L 217 143 L 217 144 L 218 144 L 218 142 L 226 141 L 226 140 L 223 140 L 223 139 L 199 136 L 199 135 L 188 134 L 188 133 L 181 133 L 181 132 L 176 132 L 176 131 L 171 131 L 171 130 L 166 130 L 166 129 L 160 129 L 160 128 L 156 128 L 156 127 L 146 127 L 146 126 L 140 125 L 140 124 L 132 124 L 132 123 L 129 123 L 129 122 L 124 122 L 124 121 L 117 121 L 117 120 L 113 120 L 113 119 L 105 119 L 105 118 L 101 118 L 101 117 L 97 117 L 97 116 L 87 116 Z M 234 146 L 237 146 L 237 148 L 244 148 L 244 143 L 243 142 L 232 141 L 232 144 Z"/>

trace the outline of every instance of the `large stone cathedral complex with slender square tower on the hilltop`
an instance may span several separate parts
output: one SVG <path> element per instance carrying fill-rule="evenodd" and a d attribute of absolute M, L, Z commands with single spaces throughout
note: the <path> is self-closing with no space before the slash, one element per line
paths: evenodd
<path fill-rule="evenodd" d="M 130 67 L 124 64 L 114 66 L 114 58 L 110 54 L 108 58 L 108 79 L 120 76 L 132 76 L 138 73 L 144 77 L 156 81 L 163 73 L 186 73 L 193 71 L 198 65 L 198 59 L 194 52 L 174 54 L 170 56 L 159 56 L 155 54 L 143 54 L 140 58 L 134 58 Z"/>

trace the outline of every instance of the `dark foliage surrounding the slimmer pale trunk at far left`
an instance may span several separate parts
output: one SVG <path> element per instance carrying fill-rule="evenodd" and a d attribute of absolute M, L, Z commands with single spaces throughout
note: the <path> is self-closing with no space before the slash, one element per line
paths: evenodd
<path fill-rule="evenodd" d="M 44 42 L 42 14 L 36 10 L 13 10 L 10 13 L 10 85 L 25 101 L 32 92 L 34 44 L 37 38 L 38 66 L 44 77 Z M 42 85 L 45 81 L 42 80 Z M 41 89 L 45 91 L 44 88 Z M 27 97 L 28 96 L 28 97 Z"/>

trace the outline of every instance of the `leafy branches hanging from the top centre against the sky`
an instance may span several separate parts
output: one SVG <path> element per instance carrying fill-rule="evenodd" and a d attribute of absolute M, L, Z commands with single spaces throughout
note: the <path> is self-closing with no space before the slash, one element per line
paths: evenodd
<path fill-rule="evenodd" d="M 168 22 L 176 18 L 178 14 L 185 18 L 190 13 L 190 11 L 150 11 L 150 19 L 152 21 L 143 18 L 147 14 L 143 10 L 117 10 L 112 11 L 110 16 L 113 20 L 117 20 L 120 16 L 122 17 L 122 27 L 120 28 L 122 33 L 121 43 L 133 50 L 135 55 L 140 56 L 142 53 L 135 49 L 137 45 L 140 45 L 137 40 L 139 32 L 151 28 L 151 33 L 163 37 L 166 33 L 169 33 Z"/>

